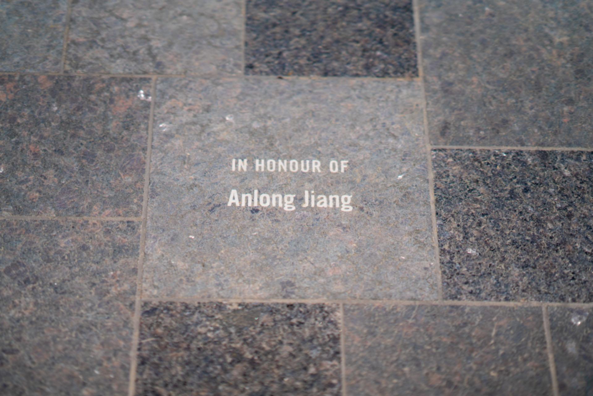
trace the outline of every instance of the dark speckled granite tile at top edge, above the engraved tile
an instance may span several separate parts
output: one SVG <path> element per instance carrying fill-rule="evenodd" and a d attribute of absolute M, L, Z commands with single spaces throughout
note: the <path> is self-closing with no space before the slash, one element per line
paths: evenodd
<path fill-rule="evenodd" d="M 411 0 L 247 0 L 245 72 L 414 77 Z"/>

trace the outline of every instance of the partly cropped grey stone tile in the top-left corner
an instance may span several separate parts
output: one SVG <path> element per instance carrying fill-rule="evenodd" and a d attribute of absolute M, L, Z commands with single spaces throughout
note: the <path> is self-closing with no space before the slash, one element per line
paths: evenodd
<path fill-rule="evenodd" d="M 59 72 L 67 0 L 0 2 L 0 71 Z"/>

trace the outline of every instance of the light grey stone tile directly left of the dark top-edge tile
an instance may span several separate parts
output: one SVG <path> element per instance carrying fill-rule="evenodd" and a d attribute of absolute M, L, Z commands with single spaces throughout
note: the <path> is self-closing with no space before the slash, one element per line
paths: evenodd
<path fill-rule="evenodd" d="M 66 70 L 240 74 L 241 1 L 74 0 Z"/>

